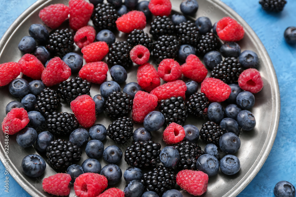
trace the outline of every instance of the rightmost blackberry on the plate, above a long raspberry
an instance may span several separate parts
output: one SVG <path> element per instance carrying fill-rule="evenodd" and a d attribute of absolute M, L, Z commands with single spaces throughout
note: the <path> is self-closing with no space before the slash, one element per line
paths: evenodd
<path fill-rule="evenodd" d="M 237 58 L 227 57 L 213 68 L 211 77 L 220 79 L 226 84 L 237 84 L 242 71 L 242 66 Z"/>

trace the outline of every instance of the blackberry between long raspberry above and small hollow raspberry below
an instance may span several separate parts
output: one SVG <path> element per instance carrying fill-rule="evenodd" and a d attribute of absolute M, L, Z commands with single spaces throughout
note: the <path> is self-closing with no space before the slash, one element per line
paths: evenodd
<path fill-rule="evenodd" d="M 165 125 L 174 122 L 179 125 L 184 124 L 188 117 L 187 108 L 183 97 L 170 97 L 169 99 L 161 100 L 159 111 L 165 117 Z"/>

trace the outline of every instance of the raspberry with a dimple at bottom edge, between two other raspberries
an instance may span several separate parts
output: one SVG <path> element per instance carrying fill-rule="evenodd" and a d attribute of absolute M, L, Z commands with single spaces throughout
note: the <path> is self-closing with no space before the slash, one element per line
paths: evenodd
<path fill-rule="evenodd" d="M 107 187 L 108 180 L 97 173 L 83 173 L 74 182 L 75 194 L 78 197 L 98 196 Z"/>

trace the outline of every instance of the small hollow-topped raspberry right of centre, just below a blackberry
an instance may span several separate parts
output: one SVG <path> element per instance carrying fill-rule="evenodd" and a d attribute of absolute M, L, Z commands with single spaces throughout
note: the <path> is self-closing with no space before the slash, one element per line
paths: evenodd
<path fill-rule="evenodd" d="M 165 144 L 176 144 L 182 141 L 185 137 L 184 128 L 177 123 L 170 123 L 170 125 L 163 131 L 163 141 Z"/>

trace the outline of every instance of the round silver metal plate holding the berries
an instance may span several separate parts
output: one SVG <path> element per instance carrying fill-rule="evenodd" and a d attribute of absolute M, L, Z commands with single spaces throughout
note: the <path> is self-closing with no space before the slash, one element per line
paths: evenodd
<path fill-rule="evenodd" d="M 260 67 L 259 71 L 264 81 L 264 87 L 261 92 L 255 94 L 256 102 L 254 107 L 250 110 L 254 113 L 257 125 L 252 131 L 245 131 L 241 133 L 241 148 L 235 154 L 241 162 L 241 169 L 236 175 L 228 176 L 224 175 L 219 171 L 218 175 L 210 177 L 207 192 L 202 196 L 213 197 L 213 196 L 236 196 L 239 194 L 255 177 L 257 172 L 262 167 L 265 162 L 268 154 L 271 150 L 271 147 L 274 143 L 276 137 L 276 132 L 278 129 L 279 115 L 280 115 L 280 95 L 279 95 L 279 86 L 276 79 L 276 74 L 274 67 L 271 63 L 271 60 L 268 56 L 267 51 L 265 50 L 263 44 L 251 29 L 251 27 L 231 8 L 226 4 L 222 3 L 219 0 L 197 0 L 199 3 L 199 10 L 197 15 L 193 18 L 200 16 L 206 16 L 211 19 L 214 23 L 225 16 L 230 16 L 236 19 L 245 29 L 244 39 L 239 42 L 239 45 L 244 50 L 255 51 L 260 58 Z M 18 50 L 17 45 L 21 38 L 28 34 L 28 28 L 31 24 L 41 23 L 41 19 L 38 17 L 39 11 L 50 4 L 54 3 L 64 3 L 67 4 L 66 0 L 39 0 L 30 6 L 24 13 L 18 17 L 15 22 L 9 27 L 7 32 L 4 34 L 3 38 L 0 41 L 0 63 L 15 61 L 17 62 L 22 53 Z M 180 12 L 179 5 L 181 1 L 172 1 L 173 10 Z M 91 22 L 90 22 L 91 24 Z M 149 21 L 147 22 L 149 24 Z M 149 26 L 144 29 L 145 32 L 149 32 Z M 126 35 L 123 33 L 117 34 L 117 40 L 125 40 Z M 76 48 L 74 52 L 79 52 Z M 104 59 L 106 60 L 106 59 Z M 77 76 L 77 73 L 72 74 Z M 108 80 L 112 80 L 110 73 L 108 73 Z M 136 66 L 133 66 L 132 69 L 128 70 L 128 79 L 126 83 L 136 81 Z M 121 88 L 125 84 L 121 84 Z M 91 88 L 91 95 L 94 96 L 99 93 L 99 85 L 93 85 Z M 0 89 L 0 119 L 3 120 L 5 117 L 5 106 L 8 102 L 16 100 L 15 97 L 11 96 L 8 93 L 8 87 L 3 87 Z M 71 112 L 70 107 L 65 103 L 62 103 L 62 107 L 59 108 L 59 111 Z M 104 113 L 100 114 L 97 118 L 96 123 L 101 123 L 104 126 L 108 127 L 112 120 L 107 118 Z M 194 124 L 197 128 L 201 128 L 202 124 L 206 120 L 197 120 L 193 117 L 188 118 L 185 124 Z M 140 127 L 141 125 L 135 124 L 134 129 Z M 159 131 L 152 133 L 153 140 L 160 142 L 162 148 L 165 144 L 161 140 L 161 134 L 164 128 Z M 41 126 L 41 130 L 43 130 Z M 9 157 L 4 156 L 4 133 L 0 133 L 0 143 L 1 143 L 1 154 L 0 159 L 2 162 L 9 161 L 9 172 L 15 178 L 15 180 L 32 196 L 51 196 L 50 194 L 42 190 L 42 180 L 45 177 L 53 175 L 56 171 L 47 163 L 46 170 L 43 175 L 38 178 L 28 178 L 20 170 L 20 165 L 22 158 L 28 154 L 38 154 L 35 149 L 32 147 L 22 148 L 20 147 L 15 140 L 15 135 L 9 136 Z M 105 147 L 110 144 L 115 144 L 108 137 L 103 141 Z M 120 148 L 125 150 L 127 146 L 131 144 L 131 140 L 128 143 L 123 144 Z M 199 141 L 199 145 L 204 148 L 205 144 L 202 141 Z M 82 147 L 85 149 L 85 145 Z M 222 155 L 223 156 L 223 155 Z M 81 161 L 78 162 L 79 165 L 87 159 L 85 153 L 81 158 Z M 99 159 L 102 166 L 106 165 L 102 158 Z M 121 170 L 124 172 L 128 165 L 122 159 L 119 163 Z M 126 182 L 122 178 L 120 182 L 112 187 L 118 187 L 124 189 Z M 177 187 L 177 189 L 180 189 Z M 180 190 L 181 191 L 181 190 Z M 191 196 L 185 191 L 182 191 L 184 196 Z M 75 196 L 74 189 L 71 189 L 70 196 Z"/>

